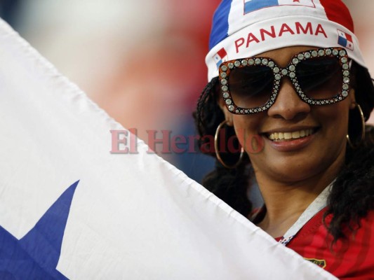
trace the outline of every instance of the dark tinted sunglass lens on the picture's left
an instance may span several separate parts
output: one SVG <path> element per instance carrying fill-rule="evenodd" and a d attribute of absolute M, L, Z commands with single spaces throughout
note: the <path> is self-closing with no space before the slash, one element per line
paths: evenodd
<path fill-rule="evenodd" d="M 267 66 L 246 66 L 229 73 L 229 90 L 236 106 L 251 109 L 266 104 L 274 74 Z"/>

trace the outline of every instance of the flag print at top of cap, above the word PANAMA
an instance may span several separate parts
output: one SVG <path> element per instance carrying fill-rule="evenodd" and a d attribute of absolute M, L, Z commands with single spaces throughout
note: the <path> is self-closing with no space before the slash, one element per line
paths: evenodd
<path fill-rule="evenodd" d="M 307 6 L 315 8 L 313 0 L 244 0 L 244 14 L 274 6 Z"/>

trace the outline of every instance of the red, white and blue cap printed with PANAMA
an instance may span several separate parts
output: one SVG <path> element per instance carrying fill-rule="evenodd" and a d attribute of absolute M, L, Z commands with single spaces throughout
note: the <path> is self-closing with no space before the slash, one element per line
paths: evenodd
<path fill-rule="evenodd" d="M 208 81 L 222 62 L 293 45 L 342 47 L 365 66 L 352 17 L 340 0 L 223 0 L 213 17 Z"/>

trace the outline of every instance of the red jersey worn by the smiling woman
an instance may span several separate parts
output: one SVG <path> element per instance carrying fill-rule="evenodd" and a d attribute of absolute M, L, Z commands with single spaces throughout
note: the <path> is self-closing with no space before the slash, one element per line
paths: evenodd
<path fill-rule="evenodd" d="M 287 247 L 339 279 L 374 279 L 374 211 L 361 219 L 361 228 L 354 234 L 347 232 L 347 239 L 339 239 L 332 248 L 333 237 L 323 225 L 325 211 L 310 219 Z M 330 216 L 326 218 L 329 222 Z"/>

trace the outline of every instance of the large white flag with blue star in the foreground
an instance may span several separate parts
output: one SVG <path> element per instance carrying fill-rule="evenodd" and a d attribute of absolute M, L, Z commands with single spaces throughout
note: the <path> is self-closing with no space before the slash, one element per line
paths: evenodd
<path fill-rule="evenodd" d="M 335 279 L 141 140 L 109 153 L 127 130 L 3 21 L 0 59 L 0 279 Z"/>

